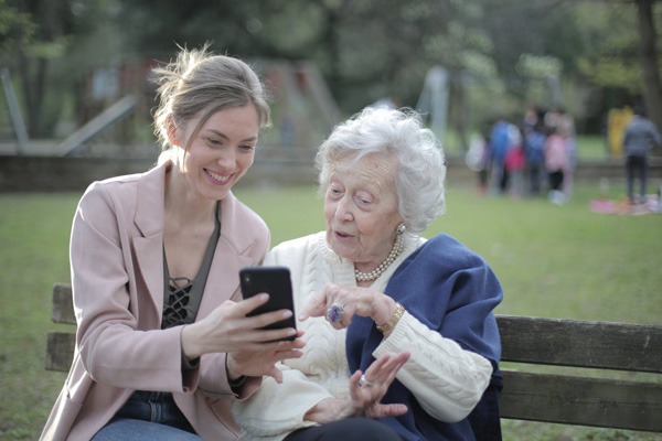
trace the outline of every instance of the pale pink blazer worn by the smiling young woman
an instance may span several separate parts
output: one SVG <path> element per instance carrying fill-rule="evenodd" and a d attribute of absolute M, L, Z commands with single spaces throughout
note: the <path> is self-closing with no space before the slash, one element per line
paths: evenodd
<path fill-rule="evenodd" d="M 89 440 L 136 389 L 173 392 L 196 432 L 234 440 L 229 405 L 245 399 L 225 374 L 225 354 L 206 354 L 182 373 L 182 326 L 161 330 L 163 309 L 163 198 L 171 163 L 147 173 L 92 184 L 72 228 L 71 267 L 77 320 L 76 349 L 42 440 Z M 259 265 L 269 248 L 264 220 L 231 193 L 221 202 L 221 237 L 197 319 L 225 300 L 241 299 L 238 271 Z"/>

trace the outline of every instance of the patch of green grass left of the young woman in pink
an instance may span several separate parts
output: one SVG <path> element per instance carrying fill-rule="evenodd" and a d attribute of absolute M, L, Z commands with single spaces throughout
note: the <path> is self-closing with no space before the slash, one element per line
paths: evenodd
<path fill-rule="evenodd" d="M 0 439 L 36 440 L 65 374 L 44 370 L 53 282 L 79 195 L 0 195 Z"/>

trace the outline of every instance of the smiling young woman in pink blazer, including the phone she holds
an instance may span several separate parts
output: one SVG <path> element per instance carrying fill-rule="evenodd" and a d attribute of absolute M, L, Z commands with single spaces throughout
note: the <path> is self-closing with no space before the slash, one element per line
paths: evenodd
<path fill-rule="evenodd" d="M 233 440 L 229 406 L 303 343 L 258 331 L 291 314 L 246 314 L 238 271 L 269 249 L 265 223 L 232 193 L 269 108 L 244 62 L 182 50 L 154 71 L 157 166 L 93 183 L 76 209 L 71 266 L 76 349 L 44 440 Z"/>

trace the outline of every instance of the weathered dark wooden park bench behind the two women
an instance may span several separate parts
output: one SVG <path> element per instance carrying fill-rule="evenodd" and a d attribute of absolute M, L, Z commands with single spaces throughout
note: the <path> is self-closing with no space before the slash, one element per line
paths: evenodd
<path fill-rule="evenodd" d="M 52 319 L 75 324 L 68 284 Z M 502 418 L 662 432 L 662 377 L 644 381 L 525 372 L 527 365 L 662 374 L 662 326 L 498 315 Z M 46 369 L 68 370 L 73 332 L 50 332 Z M 516 369 L 511 363 L 516 363 Z M 580 369 L 577 369 L 580 370 Z"/>

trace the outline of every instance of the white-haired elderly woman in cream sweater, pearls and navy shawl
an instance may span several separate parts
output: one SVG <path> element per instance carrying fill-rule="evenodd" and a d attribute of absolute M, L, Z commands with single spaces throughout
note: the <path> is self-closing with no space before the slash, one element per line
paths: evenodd
<path fill-rule="evenodd" d="M 280 244 L 302 357 L 233 402 L 243 439 L 499 439 L 500 283 L 447 235 L 445 161 L 413 111 L 365 109 L 317 155 L 327 230 Z M 477 406 L 478 405 L 478 406 Z"/>

